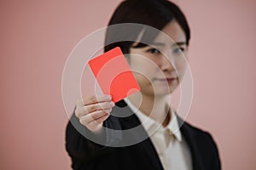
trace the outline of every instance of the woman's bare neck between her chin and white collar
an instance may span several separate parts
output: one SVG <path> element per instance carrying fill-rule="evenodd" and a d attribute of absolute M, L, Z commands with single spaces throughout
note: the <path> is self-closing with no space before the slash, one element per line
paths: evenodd
<path fill-rule="evenodd" d="M 170 98 L 168 96 L 152 96 L 147 94 L 133 94 L 128 97 L 132 105 L 135 105 L 146 116 L 156 122 L 160 122 L 164 127 L 171 120 L 171 110 L 169 110 Z M 171 108 L 171 106 L 170 106 Z"/>

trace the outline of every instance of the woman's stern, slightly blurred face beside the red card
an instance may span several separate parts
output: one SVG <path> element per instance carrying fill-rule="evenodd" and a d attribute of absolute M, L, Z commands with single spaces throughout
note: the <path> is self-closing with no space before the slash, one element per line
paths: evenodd
<path fill-rule="evenodd" d="M 160 33 L 152 45 L 130 49 L 130 67 L 142 94 L 172 94 L 186 69 L 188 47 L 182 28 L 173 20 L 162 31 L 168 37 Z"/>

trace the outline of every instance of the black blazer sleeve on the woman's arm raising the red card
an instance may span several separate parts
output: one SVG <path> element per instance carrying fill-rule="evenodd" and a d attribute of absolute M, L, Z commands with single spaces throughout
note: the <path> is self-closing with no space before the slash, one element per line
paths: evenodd
<path fill-rule="evenodd" d="M 74 114 L 70 118 L 66 128 L 66 150 L 71 157 L 73 169 L 95 169 L 97 158 L 109 154 L 112 151 L 109 146 L 121 140 L 119 133 L 108 130 L 120 129 L 116 117 L 109 116 L 103 122 L 103 127 L 106 127 L 103 133 L 98 135 L 82 125 Z M 100 144 L 94 141 L 100 141 Z"/>

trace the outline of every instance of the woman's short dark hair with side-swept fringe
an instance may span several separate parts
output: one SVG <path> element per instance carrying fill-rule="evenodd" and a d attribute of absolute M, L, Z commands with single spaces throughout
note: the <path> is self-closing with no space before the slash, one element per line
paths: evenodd
<path fill-rule="evenodd" d="M 123 24 L 123 23 L 137 23 L 142 24 L 136 29 L 125 28 L 120 26 L 117 29 L 107 29 L 105 37 L 104 51 L 120 47 L 124 54 L 128 54 L 131 45 L 134 42 L 131 41 L 115 41 L 124 40 L 125 37 L 136 39 L 141 31 L 143 31 L 143 25 L 152 26 L 155 29 L 162 30 L 170 21 L 177 20 L 177 23 L 183 29 L 186 36 L 186 43 L 189 45 L 190 30 L 188 22 L 176 4 L 167 0 L 126 0 L 119 4 L 115 9 L 112 18 L 109 20 L 108 26 Z M 148 37 L 154 40 L 157 35 L 148 35 L 147 29 L 143 33 L 143 39 Z M 149 40 L 150 41 L 150 40 Z M 136 48 L 146 46 L 144 43 L 138 43 Z"/>

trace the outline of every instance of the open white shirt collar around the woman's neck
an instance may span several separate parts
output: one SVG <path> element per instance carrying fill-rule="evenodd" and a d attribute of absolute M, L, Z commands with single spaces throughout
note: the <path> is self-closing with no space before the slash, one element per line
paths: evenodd
<path fill-rule="evenodd" d="M 139 120 L 142 122 L 143 124 L 143 127 L 145 128 L 145 130 L 148 132 L 150 127 L 153 127 L 154 125 L 157 125 L 159 126 L 160 123 L 159 122 L 156 122 L 154 121 L 152 118 L 146 116 L 145 114 L 143 114 L 142 111 L 138 110 L 137 107 L 135 105 L 132 105 L 131 102 L 129 101 L 128 98 L 125 98 L 124 99 L 126 104 L 130 107 L 131 111 L 133 111 L 139 118 Z M 179 129 L 179 126 L 178 126 L 178 123 L 177 123 L 177 115 L 175 114 L 175 111 L 171 111 L 171 120 L 170 122 L 168 123 L 168 125 L 166 127 L 161 127 L 162 128 L 168 128 L 175 136 L 175 138 L 181 142 L 182 141 L 182 134 L 180 132 L 180 129 Z"/>

